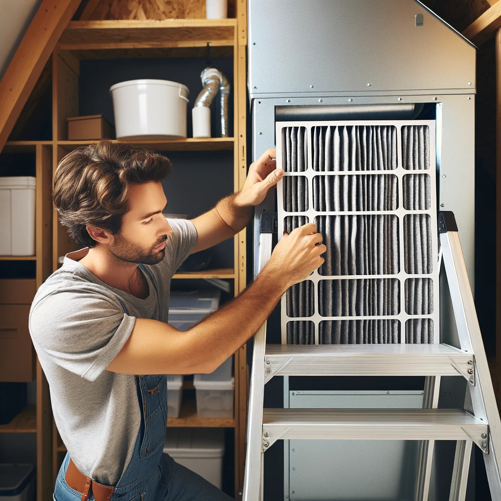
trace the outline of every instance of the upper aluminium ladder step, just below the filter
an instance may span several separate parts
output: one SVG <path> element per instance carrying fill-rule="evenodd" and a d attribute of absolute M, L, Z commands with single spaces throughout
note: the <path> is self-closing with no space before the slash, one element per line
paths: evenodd
<path fill-rule="evenodd" d="M 474 384 L 473 362 L 473 354 L 446 344 L 267 345 L 265 382 L 277 375 L 462 375 Z"/>

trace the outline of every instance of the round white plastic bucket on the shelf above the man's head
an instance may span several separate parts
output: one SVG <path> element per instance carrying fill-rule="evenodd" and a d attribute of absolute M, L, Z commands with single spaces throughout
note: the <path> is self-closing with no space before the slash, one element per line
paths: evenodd
<path fill-rule="evenodd" d="M 117 139 L 186 137 L 189 90 L 169 80 L 128 80 L 110 87 Z"/>

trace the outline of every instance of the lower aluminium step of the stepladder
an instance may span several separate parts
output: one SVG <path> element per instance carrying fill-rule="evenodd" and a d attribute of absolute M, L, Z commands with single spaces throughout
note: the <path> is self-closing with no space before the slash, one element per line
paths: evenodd
<path fill-rule="evenodd" d="M 297 438 L 473 440 L 487 451 L 487 433 L 484 421 L 459 409 L 264 409 L 263 412 L 265 449 L 276 440 Z"/>

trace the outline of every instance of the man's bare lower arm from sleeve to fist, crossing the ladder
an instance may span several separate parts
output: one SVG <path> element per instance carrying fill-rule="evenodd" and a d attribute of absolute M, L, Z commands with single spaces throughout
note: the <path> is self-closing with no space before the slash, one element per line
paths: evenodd
<path fill-rule="evenodd" d="M 122 374 L 209 373 L 252 337 L 292 285 L 322 265 L 326 250 L 315 224 L 286 235 L 253 284 L 188 331 L 137 319 L 107 370 Z"/>

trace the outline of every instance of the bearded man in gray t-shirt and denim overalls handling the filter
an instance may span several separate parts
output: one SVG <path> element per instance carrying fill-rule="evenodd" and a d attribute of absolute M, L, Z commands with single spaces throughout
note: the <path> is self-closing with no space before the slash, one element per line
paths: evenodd
<path fill-rule="evenodd" d="M 164 455 L 165 374 L 209 373 L 267 319 L 285 291 L 323 263 L 314 224 L 276 246 L 236 299 L 185 332 L 168 325 L 170 281 L 186 257 L 232 237 L 283 176 L 275 150 L 242 190 L 192 221 L 166 220 L 162 155 L 101 141 L 69 153 L 54 178 L 60 220 L 85 248 L 39 289 L 30 332 L 68 454 L 56 501 L 224 500 Z M 70 459 L 71 458 L 71 459 Z"/>

